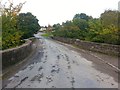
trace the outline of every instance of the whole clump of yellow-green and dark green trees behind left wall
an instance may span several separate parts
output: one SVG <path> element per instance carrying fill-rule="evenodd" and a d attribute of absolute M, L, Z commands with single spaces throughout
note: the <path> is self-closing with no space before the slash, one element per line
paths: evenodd
<path fill-rule="evenodd" d="M 24 39 L 32 37 L 40 29 L 38 19 L 32 13 L 19 13 L 24 3 L 13 6 L 3 5 L 2 15 L 2 49 L 16 47 Z"/>

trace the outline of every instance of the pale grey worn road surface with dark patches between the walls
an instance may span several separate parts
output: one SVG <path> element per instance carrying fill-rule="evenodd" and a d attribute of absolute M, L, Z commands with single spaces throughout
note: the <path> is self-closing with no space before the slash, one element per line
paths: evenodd
<path fill-rule="evenodd" d="M 32 58 L 33 62 L 9 78 L 6 88 L 118 87 L 117 77 L 108 74 L 109 68 L 101 66 L 104 64 L 100 65 L 105 70 L 102 72 L 102 69 L 94 67 L 95 63 L 74 49 L 50 39 L 42 38 L 39 41 L 42 43 Z"/>

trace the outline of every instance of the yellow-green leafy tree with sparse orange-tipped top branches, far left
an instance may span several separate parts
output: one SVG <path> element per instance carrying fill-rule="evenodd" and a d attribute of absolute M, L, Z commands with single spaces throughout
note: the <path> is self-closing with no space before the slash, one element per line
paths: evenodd
<path fill-rule="evenodd" d="M 15 47 L 23 43 L 21 41 L 21 31 L 17 27 L 17 15 L 19 14 L 24 3 L 13 6 L 9 2 L 9 6 L 3 5 L 2 8 L 2 49 Z"/>

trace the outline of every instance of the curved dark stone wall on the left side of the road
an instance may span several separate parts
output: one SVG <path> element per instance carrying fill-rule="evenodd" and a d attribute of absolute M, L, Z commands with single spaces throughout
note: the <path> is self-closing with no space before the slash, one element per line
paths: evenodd
<path fill-rule="evenodd" d="M 31 40 L 26 40 L 26 42 L 21 46 L 1 51 L 0 53 L 2 53 L 2 69 L 5 69 L 10 65 L 22 61 L 29 56 L 31 51 Z"/>

